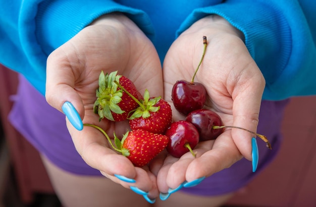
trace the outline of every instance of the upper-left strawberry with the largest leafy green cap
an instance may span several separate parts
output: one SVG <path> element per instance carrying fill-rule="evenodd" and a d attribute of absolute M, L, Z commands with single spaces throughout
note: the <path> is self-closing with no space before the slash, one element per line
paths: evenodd
<path fill-rule="evenodd" d="M 124 90 L 118 88 L 120 85 L 132 94 L 136 99 L 142 99 L 134 83 L 128 78 L 117 75 L 117 71 L 99 76 L 99 88 L 96 90 L 96 101 L 94 102 L 94 113 L 99 115 L 99 120 L 107 118 L 111 121 L 123 121 L 127 119 L 130 111 L 135 110 L 138 104 Z"/>

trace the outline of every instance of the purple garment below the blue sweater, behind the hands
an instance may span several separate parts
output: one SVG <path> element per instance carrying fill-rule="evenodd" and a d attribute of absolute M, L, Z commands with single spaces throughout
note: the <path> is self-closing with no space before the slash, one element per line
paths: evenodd
<path fill-rule="evenodd" d="M 20 84 L 9 119 L 16 129 L 52 163 L 63 170 L 79 175 L 102 176 L 88 166 L 76 151 L 66 127 L 65 115 L 52 108 L 45 98 L 19 76 Z M 255 173 L 251 162 L 242 159 L 228 169 L 207 177 L 195 187 L 182 191 L 199 195 L 219 195 L 239 189 L 251 181 L 269 164 L 279 151 L 281 123 L 288 100 L 262 101 L 257 132 L 269 137 L 273 150 L 264 142 L 258 142 L 259 163 Z"/>

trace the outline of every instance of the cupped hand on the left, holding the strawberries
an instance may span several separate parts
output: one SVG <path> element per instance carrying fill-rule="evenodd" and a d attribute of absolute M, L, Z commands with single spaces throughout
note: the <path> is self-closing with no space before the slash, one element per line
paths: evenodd
<path fill-rule="evenodd" d="M 52 52 L 47 59 L 46 100 L 62 111 L 68 101 L 78 111 L 83 123 L 102 127 L 110 137 L 120 137 L 129 129 L 128 121 L 98 121 L 93 112 L 100 72 L 118 71 L 134 82 L 141 94 L 148 89 L 152 96 L 162 96 L 163 79 L 159 56 L 150 40 L 122 14 L 104 15 L 84 28 L 68 42 Z M 146 168 L 135 168 L 124 156 L 110 147 L 97 129 L 84 126 L 75 129 L 67 119 L 73 143 L 84 161 L 102 174 L 125 187 L 139 189 L 157 196 L 156 178 Z M 114 175 L 134 179 L 124 182 Z"/>

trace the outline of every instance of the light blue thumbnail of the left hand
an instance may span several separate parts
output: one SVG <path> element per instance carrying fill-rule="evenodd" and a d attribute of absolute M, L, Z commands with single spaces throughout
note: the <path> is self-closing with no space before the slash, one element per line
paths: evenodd
<path fill-rule="evenodd" d="M 66 114 L 68 120 L 70 123 L 77 129 L 82 130 L 83 129 L 83 123 L 80 118 L 80 115 L 78 111 L 75 109 L 75 107 L 72 105 L 72 103 L 66 101 L 62 106 L 63 112 Z"/>

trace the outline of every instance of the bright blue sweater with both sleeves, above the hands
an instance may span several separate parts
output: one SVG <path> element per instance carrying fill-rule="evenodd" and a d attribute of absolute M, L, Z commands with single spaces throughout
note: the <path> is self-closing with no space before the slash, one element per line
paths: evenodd
<path fill-rule="evenodd" d="M 49 53 L 111 12 L 133 20 L 162 61 L 181 32 L 218 14 L 244 33 L 266 79 L 263 99 L 316 94 L 316 1 L 309 0 L 0 0 L 0 63 L 44 94 Z"/>

